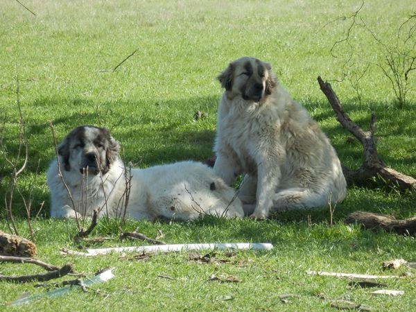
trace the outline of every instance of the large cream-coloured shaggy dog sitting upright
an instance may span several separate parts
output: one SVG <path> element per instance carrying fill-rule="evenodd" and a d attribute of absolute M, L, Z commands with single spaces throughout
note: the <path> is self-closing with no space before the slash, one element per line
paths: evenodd
<path fill-rule="evenodd" d="M 282 209 L 324 207 L 345 198 L 346 182 L 329 139 L 279 85 L 272 67 L 235 60 L 218 80 L 214 171 L 231 184 L 246 173 L 239 198 L 246 214 L 267 218 Z"/>

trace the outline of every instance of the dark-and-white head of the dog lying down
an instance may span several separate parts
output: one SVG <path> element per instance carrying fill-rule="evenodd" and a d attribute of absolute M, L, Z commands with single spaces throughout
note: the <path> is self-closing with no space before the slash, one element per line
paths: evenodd
<path fill-rule="evenodd" d="M 105 128 L 80 125 L 73 129 L 58 147 L 66 171 L 81 174 L 105 174 L 119 157 L 119 143 Z"/>

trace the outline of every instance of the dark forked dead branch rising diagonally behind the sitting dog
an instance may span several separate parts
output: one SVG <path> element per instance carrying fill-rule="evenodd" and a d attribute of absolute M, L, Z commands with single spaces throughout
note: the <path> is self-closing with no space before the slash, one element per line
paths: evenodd
<path fill-rule="evenodd" d="M 329 104 L 336 113 L 336 119 L 339 123 L 361 142 L 364 149 L 364 162 L 358 170 L 353 171 L 343 166 L 345 178 L 348 182 L 363 183 L 373 177 L 387 182 L 388 185 L 398 187 L 399 190 L 416 189 L 416 180 L 413 177 L 399 173 L 392 168 L 384 166 L 377 153 L 376 139 L 374 138 L 374 129 L 376 116 L 371 115 L 370 130 L 363 131 L 349 116 L 344 112 L 340 100 L 333 91 L 329 83 L 324 83 L 320 76 L 318 77 L 320 89 L 327 96 Z"/>

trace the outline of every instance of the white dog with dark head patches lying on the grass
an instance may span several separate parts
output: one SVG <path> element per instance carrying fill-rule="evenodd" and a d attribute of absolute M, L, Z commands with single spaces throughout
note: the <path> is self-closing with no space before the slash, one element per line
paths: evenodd
<path fill-rule="evenodd" d="M 123 216 L 126 185 L 130 185 L 126 216 L 137 220 L 243 216 L 234 189 L 198 162 L 134 168 L 130 180 L 129 168 L 119 159 L 119 144 L 105 128 L 73 129 L 58 147 L 58 159 L 72 200 L 54 160 L 47 173 L 52 217 L 92 216 L 94 209 L 99 209 L 99 216 Z"/>

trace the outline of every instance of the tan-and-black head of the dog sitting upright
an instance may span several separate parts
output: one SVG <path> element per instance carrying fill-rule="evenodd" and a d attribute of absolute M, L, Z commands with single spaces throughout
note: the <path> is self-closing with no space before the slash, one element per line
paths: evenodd
<path fill-rule="evenodd" d="M 239 58 L 217 77 L 229 98 L 241 96 L 245 101 L 259 102 L 276 87 L 272 66 L 257 58 Z"/>

